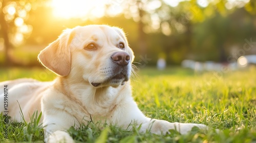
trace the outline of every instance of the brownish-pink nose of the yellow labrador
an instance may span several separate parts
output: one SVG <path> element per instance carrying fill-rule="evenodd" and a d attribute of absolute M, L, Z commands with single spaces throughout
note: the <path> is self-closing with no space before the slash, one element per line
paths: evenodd
<path fill-rule="evenodd" d="M 116 52 L 111 59 L 118 65 L 124 66 L 130 62 L 130 56 L 126 52 Z"/>

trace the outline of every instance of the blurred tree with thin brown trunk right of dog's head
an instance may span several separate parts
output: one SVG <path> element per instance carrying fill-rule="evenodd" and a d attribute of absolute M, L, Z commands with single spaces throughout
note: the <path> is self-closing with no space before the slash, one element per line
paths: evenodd
<path fill-rule="evenodd" d="M 156 14 L 156 10 L 162 5 L 160 1 L 156 0 L 131 0 L 131 1 L 119 1 L 119 4 L 123 8 L 123 13 L 126 18 L 133 18 L 138 24 L 138 45 L 140 56 L 146 56 L 147 43 L 145 32 L 149 27 L 153 29 L 159 28 L 159 18 Z"/>

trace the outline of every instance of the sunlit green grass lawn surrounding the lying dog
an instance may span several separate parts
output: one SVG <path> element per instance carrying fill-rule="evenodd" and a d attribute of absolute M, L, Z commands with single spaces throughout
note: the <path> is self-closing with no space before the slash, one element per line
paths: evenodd
<path fill-rule="evenodd" d="M 133 97 L 148 117 L 169 122 L 200 123 L 221 129 L 201 132 L 194 129 L 180 135 L 139 133 L 90 123 L 69 133 L 77 142 L 256 142 L 256 68 L 230 72 L 194 73 L 189 69 L 170 67 L 158 71 L 144 68 L 132 78 Z M 34 69 L 0 69 L 0 81 L 31 77 L 41 81 L 54 79 L 50 71 Z M 2 108 L 2 107 L 1 107 Z M 34 116 L 39 116 L 39 113 Z M 9 123 L 4 139 L 4 117 L 0 116 L 0 142 L 43 142 L 42 127 L 31 123 Z"/>

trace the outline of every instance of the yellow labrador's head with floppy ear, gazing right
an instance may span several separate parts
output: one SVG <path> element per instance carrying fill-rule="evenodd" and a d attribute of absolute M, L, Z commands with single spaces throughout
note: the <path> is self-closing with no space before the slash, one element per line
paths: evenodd
<path fill-rule="evenodd" d="M 129 80 L 134 55 L 121 29 L 90 25 L 63 31 L 38 59 L 59 76 L 116 87 Z"/>

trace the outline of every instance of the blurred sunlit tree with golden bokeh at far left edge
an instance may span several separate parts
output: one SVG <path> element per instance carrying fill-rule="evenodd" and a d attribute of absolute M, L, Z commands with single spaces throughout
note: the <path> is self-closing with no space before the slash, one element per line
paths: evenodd
<path fill-rule="evenodd" d="M 44 1 L 0 1 L 0 36 L 4 39 L 6 65 L 13 64 L 9 54 L 10 49 L 24 42 L 24 38 L 31 34 L 33 27 L 26 25 L 26 21 L 29 13 L 42 2 Z"/>

